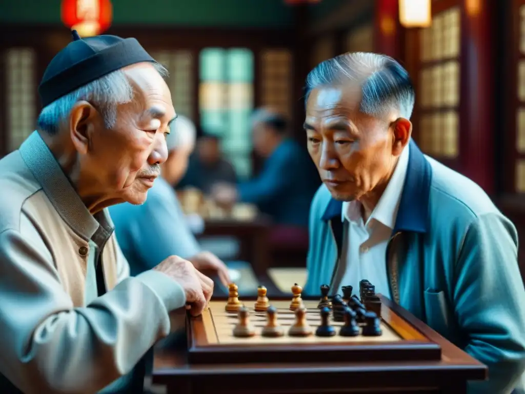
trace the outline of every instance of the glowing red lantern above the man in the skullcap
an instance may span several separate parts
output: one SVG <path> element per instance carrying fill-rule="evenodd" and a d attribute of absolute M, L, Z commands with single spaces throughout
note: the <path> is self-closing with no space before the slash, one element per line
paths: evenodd
<path fill-rule="evenodd" d="M 62 22 L 81 37 L 96 36 L 111 26 L 111 0 L 62 0 Z"/>

